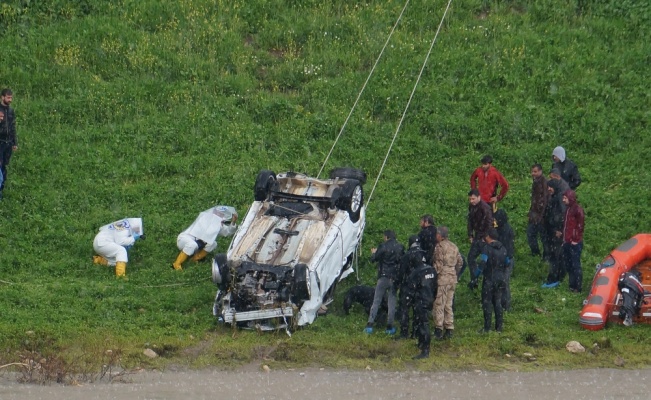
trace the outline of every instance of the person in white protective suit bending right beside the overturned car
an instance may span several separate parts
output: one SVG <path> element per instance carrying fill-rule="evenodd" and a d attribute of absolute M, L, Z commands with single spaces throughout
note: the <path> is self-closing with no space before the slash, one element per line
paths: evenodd
<path fill-rule="evenodd" d="M 172 268 L 183 269 L 183 263 L 192 257 L 198 262 L 217 248 L 217 236 L 231 236 L 237 230 L 237 211 L 230 206 L 215 206 L 203 211 L 192 225 L 179 235 L 176 245 L 181 250 Z"/>

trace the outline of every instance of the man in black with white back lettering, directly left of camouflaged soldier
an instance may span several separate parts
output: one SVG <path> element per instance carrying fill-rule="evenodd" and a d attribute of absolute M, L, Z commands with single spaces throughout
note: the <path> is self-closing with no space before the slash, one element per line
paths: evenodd
<path fill-rule="evenodd" d="M 431 335 L 429 331 L 429 314 L 432 312 L 436 298 L 436 270 L 423 264 L 418 254 L 410 255 L 410 264 L 413 272 L 407 278 L 407 301 L 414 307 L 414 320 L 416 322 L 416 336 L 420 354 L 415 360 L 429 357 Z"/>

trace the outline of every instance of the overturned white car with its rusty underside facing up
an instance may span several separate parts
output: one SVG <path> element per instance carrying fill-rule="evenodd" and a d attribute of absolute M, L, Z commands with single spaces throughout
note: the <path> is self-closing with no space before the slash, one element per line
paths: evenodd
<path fill-rule="evenodd" d="M 213 314 L 262 330 L 312 323 L 353 271 L 365 182 L 353 168 L 336 168 L 329 179 L 260 171 L 255 201 L 228 253 L 213 260 Z"/>

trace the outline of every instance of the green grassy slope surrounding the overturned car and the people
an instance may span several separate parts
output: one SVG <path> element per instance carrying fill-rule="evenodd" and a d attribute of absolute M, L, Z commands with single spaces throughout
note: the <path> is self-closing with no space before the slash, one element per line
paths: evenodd
<path fill-rule="evenodd" d="M 335 311 L 291 339 L 216 328 L 208 267 L 168 267 L 200 210 L 219 202 L 245 212 L 258 170 L 319 171 L 403 4 L 113 3 L 0 6 L 0 84 L 14 89 L 21 140 L 0 209 L 0 360 L 33 350 L 92 364 L 113 348 L 125 364 L 153 365 L 140 352 L 156 346 L 161 364 L 404 367 L 412 345 L 365 337 L 359 312 Z M 492 154 L 512 184 L 504 207 L 518 260 L 506 333 L 474 334 L 479 301 L 460 286 L 458 337 L 434 345 L 447 356 L 428 368 L 649 361 L 639 351 L 648 327 L 582 331 L 583 298 L 541 290 L 546 266 L 527 255 L 529 166 L 548 168 L 559 144 L 584 178 L 585 287 L 594 264 L 651 226 L 640 151 L 651 147 L 651 7 L 612 1 L 577 15 L 566 3 L 496 2 L 487 14 L 453 4 L 369 204 L 365 254 L 387 227 L 406 241 L 426 212 L 467 251 L 467 179 L 480 156 Z M 367 194 L 443 8 L 412 2 L 328 162 L 364 168 Z M 91 265 L 91 243 L 97 227 L 125 216 L 145 218 L 149 238 L 132 250 L 129 280 L 116 281 Z M 374 266 L 362 258 L 360 270 L 372 284 Z M 612 347 L 564 350 L 602 336 Z M 523 352 L 537 363 L 504 356 Z"/>

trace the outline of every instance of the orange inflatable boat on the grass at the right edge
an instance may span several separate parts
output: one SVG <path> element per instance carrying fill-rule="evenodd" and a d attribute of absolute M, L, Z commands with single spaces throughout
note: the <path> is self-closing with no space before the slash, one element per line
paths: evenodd
<path fill-rule="evenodd" d="M 597 331 L 606 323 L 620 323 L 621 295 L 617 282 L 622 273 L 636 269 L 646 291 L 651 289 L 651 234 L 641 233 L 628 239 L 613 250 L 599 265 L 592 288 L 584 302 L 579 323 L 585 329 Z M 645 294 L 645 298 L 649 298 Z M 645 300 L 633 322 L 651 323 L 651 300 Z"/>

